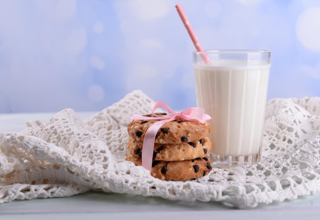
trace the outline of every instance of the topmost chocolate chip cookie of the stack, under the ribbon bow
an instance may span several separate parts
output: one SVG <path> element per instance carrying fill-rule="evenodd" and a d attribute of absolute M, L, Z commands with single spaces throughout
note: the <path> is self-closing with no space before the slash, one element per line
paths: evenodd
<path fill-rule="evenodd" d="M 157 113 L 163 114 L 166 113 Z M 151 114 L 145 115 L 151 117 Z M 133 120 L 128 125 L 129 135 L 138 141 L 143 141 L 147 129 L 158 120 Z M 177 144 L 200 140 L 208 136 L 211 127 L 208 122 L 201 123 L 197 120 L 175 120 L 165 123 L 157 132 L 154 143 Z"/>

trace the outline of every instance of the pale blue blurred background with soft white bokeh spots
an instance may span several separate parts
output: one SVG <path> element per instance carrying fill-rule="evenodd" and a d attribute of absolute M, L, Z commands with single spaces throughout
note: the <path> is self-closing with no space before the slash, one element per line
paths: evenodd
<path fill-rule="evenodd" d="M 320 95 L 320 1 L 0 0 L 0 113 L 195 106 L 178 3 L 204 49 L 272 51 L 268 99 Z"/>

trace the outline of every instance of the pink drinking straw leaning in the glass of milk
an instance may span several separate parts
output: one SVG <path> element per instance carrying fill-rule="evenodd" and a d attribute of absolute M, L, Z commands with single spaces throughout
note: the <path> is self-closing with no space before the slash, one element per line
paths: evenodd
<path fill-rule="evenodd" d="M 201 46 L 201 43 L 200 43 L 196 33 L 194 32 L 194 30 L 188 20 L 188 17 L 186 15 L 186 13 L 184 12 L 184 9 L 182 9 L 182 6 L 180 4 L 176 5 L 175 8 L 177 9 L 177 12 L 180 16 L 182 23 L 184 23 L 185 28 L 187 29 L 187 32 L 192 40 L 194 47 L 196 48 L 196 50 L 198 52 L 203 52 L 203 48 Z M 210 60 L 209 60 L 209 57 L 207 56 L 207 54 L 201 53 L 200 56 L 202 57 L 204 63 L 210 64 Z"/>

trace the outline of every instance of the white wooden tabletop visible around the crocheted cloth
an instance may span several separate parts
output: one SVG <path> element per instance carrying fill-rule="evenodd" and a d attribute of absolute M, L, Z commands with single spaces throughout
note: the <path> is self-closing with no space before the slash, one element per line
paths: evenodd
<path fill-rule="evenodd" d="M 0 114 L 0 132 L 19 132 L 26 121 L 45 122 L 53 113 Z M 84 119 L 94 113 L 78 113 Z M 294 201 L 239 210 L 220 203 L 168 201 L 160 197 L 88 192 L 71 197 L 0 204 L 0 219 L 320 219 L 320 192 Z"/>

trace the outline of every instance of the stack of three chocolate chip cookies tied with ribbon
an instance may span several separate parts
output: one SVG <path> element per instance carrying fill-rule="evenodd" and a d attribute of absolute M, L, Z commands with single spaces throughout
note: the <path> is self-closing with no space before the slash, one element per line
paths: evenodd
<path fill-rule="evenodd" d="M 165 113 L 161 113 L 165 114 Z M 146 116 L 151 116 L 146 115 Z M 142 146 L 147 129 L 157 120 L 133 120 L 128 125 L 130 139 L 127 161 L 142 165 Z M 175 120 L 165 123 L 154 140 L 151 175 L 161 180 L 186 181 L 207 175 L 212 167 L 206 153 L 211 149 L 207 137 L 210 124 Z"/>

